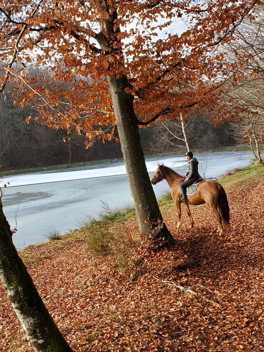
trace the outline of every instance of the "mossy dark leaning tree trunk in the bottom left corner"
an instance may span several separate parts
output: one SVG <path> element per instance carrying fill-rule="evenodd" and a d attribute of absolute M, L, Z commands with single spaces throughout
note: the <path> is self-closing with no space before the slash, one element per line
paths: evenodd
<path fill-rule="evenodd" d="M 0 278 L 32 347 L 73 352 L 51 318 L 12 241 L 0 200 Z"/>

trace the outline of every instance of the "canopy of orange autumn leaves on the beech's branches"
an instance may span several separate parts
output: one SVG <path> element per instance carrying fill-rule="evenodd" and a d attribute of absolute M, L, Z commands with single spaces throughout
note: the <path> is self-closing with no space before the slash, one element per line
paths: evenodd
<path fill-rule="evenodd" d="M 235 67 L 217 48 L 260 3 L 1 0 L 0 90 L 13 84 L 19 105 L 36 107 L 37 121 L 88 141 L 115 138 L 111 75 L 128 78 L 123 90 L 137 97 L 139 125 L 218 106 L 216 120 L 235 117 L 219 102 Z M 172 30 L 177 18 L 188 25 L 181 34 Z M 34 77 L 31 65 L 39 67 Z"/>

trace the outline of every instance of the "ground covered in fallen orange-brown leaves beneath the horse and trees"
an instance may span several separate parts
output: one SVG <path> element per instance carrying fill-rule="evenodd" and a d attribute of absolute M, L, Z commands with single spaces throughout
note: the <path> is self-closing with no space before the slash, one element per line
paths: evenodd
<path fill-rule="evenodd" d="M 191 229 L 183 210 L 177 229 L 164 199 L 174 246 L 140 236 L 132 211 L 20 252 L 74 351 L 264 351 L 264 168 L 221 183 L 231 215 L 221 237 L 207 205 L 190 207 Z M 0 316 L 0 350 L 32 351 L 2 287 Z"/>

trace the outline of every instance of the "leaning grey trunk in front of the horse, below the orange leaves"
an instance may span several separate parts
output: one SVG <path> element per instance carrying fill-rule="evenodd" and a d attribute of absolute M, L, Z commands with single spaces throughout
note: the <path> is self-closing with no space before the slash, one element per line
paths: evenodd
<path fill-rule="evenodd" d="M 150 183 L 139 128 L 133 107 L 133 96 L 124 92 L 128 86 L 126 76 L 108 76 L 112 102 L 117 120 L 121 149 L 125 160 L 131 194 L 135 203 L 139 230 L 154 237 L 174 239 L 164 224 L 155 193 Z"/>

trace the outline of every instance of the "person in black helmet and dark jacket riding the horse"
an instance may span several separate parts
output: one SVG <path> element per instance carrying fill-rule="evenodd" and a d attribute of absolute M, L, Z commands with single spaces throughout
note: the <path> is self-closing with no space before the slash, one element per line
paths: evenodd
<path fill-rule="evenodd" d="M 185 156 L 186 156 L 186 162 L 188 163 L 188 169 L 190 171 L 186 172 L 186 174 L 184 175 L 186 178 L 180 182 L 180 191 L 182 193 L 182 197 L 181 198 L 179 197 L 178 201 L 183 203 L 186 203 L 186 187 L 189 184 L 199 180 L 200 178 L 200 175 L 198 172 L 199 162 L 197 161 L 196 158 L 193 157 L 193 153 L 187 152 Z"/>

